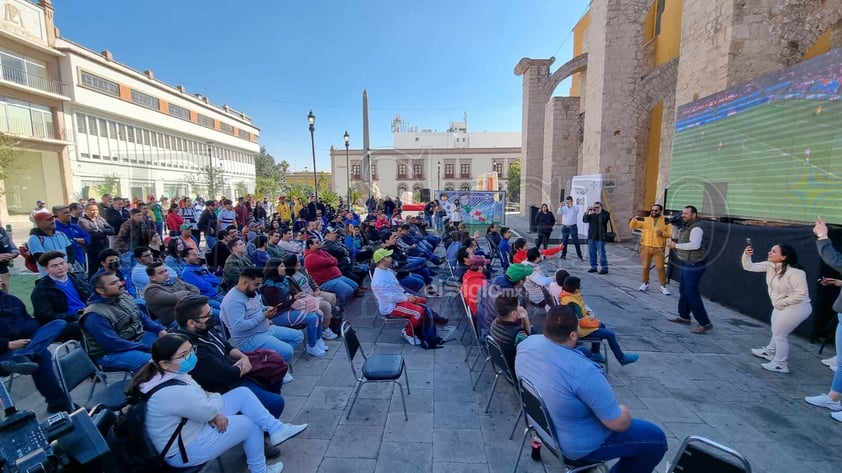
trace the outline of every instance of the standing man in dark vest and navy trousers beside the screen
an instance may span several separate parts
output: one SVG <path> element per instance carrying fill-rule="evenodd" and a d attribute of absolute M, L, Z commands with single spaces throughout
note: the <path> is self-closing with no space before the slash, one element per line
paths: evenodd
<path fill-rule="evenodd" d="M 699 323 L 693 333 L 705 333 L 713 329 L 708 318 L 702 296 L 699 294 L 699 283 L 705 274 L 708 244 L 701 220 L 696 207 L 688 205 L 681 212 L 684 226 L 678 232 L 678 241 L 670 241 L 670 249 L 674 249 L 681 268 L 681 283 L 678 286 L 678 317 L 672 317 L 670 322 L 690 325 L 690 313 Z"/>

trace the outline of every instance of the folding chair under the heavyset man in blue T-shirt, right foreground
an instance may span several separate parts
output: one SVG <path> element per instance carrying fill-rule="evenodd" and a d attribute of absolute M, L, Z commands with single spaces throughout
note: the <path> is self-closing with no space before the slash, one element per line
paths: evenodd
<path fill-rule="evenodd" d="M 523 432 L 523 441 L 520 443 L 520 450 L 518 450 L 517 461 L 513 473 L 517 472 L 517 467 L 520 465 L 520 457 L 523 452 L 523 446 L 526 445 L 526 439 L 529 437 L 529 431 L 532 430 L 538 438 L 541 439 L 547 451 L 555 455 L 558 461 L 561 462 L 564 471 L 567 473 L 579 473 L 591 470 L 601 472 L 608 472 L 608 467 L 604 462 L 589 462 L 581 460 L 571 460 L 566 458 L 561 453 L 561 446 L 556 438 L 555 425 L 550 413 L 547 411 L 547 405 L 544 403 L 544 398 L 535 389 L 535 386 L 526 378 L 518 377 L 521 409 L 526 420 L 526 429 Z M 543 464 L 543 461 L 541 462 Z M 544 465 L 544 471 L 547 466 Z M 715 470 L 711 470 L 715 471 Z M 718 472 L 717 472 L 718 473 Z"/>

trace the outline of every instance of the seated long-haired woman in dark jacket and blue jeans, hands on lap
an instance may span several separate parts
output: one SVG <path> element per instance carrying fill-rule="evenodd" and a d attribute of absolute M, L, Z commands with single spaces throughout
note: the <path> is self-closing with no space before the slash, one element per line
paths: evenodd
<path fill-rule="evenodd" d="M 286 276 L 286 266 L 281 258 L 272 258 L 266 263 L 261 292 L 266 303 L 278 311 L 272 323 L 289 328 L 306 325 L 307 354 L 315 357 L 325 356 L 328 347 L 322 340 L 319 301 L 303 292 L 295 281 Z"/>

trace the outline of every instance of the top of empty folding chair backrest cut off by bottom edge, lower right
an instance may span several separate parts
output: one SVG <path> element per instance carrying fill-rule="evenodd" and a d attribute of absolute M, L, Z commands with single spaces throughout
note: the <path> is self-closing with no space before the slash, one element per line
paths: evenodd
<path fill-rule="evenodd" d="M 684 439 L 667 473 L 751 473 L 742 454 L 713 440 L 691 435 Z"/>

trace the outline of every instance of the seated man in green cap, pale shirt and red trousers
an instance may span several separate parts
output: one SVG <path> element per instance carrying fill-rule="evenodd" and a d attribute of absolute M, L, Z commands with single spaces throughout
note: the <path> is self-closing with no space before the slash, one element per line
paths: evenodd
<path fill-rule="evenodd" d="M 375 251 L 374 262 L 377 267 L 371 277 L 371 290 L 377 299 L 380 313 L 406 318 L 406 328 L 401 330 L 401 338 L 410 345 L 420 345 L 421 340 L 415 336 L 415 330 L 421 326 L 427 299 L 407 294 L 398 283 L 395 273 L 389 269 L 392 265 L 392 250 L 380 248 Z"/>

